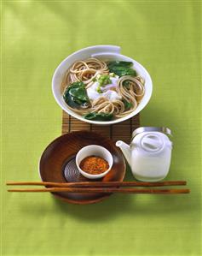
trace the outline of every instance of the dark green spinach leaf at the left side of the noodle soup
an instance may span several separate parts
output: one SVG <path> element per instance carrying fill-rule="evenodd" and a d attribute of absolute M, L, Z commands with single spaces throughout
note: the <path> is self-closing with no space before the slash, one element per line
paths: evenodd
<path fill-rule="evenodd" d="M 89 104 L 89 98 L 82 81 L 74 82 L 66 88 L 63 98 L 72 108 L 79 108 Z"/>

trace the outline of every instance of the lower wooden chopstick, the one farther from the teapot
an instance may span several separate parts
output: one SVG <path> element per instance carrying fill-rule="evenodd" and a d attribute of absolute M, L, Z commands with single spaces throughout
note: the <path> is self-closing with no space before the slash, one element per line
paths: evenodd
<path fill-rule="evenodd" d="M 33 188 L 9 189 L 9 192 L 68 192 L 68 193 L 189 193 L 189 189 L 152 189 L 152 188 Z"/>

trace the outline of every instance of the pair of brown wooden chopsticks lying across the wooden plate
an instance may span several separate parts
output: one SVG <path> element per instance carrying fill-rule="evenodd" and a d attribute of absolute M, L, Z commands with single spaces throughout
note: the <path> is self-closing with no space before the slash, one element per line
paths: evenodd
<path fill-rule="evenodd" d="M 185 181 L 172 182 L 7 182 L 8 186 L 46 186 L 47 188 L 18 188 L 9 192 L 68 192 L 68 193 L 190 193 L 188 188 L 156 189 L 147 187 L 166 187 L 187 185 Z M 146 188 L 123 188 L 146 187 Z"/>

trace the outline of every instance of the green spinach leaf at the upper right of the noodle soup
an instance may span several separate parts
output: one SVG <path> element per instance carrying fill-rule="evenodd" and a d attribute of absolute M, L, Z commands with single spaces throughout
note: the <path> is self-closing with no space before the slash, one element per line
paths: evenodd
<path fill-rule="evenodd" d="M 117 74 L 118 76 L 133 75 L 136 76 L 136 70 L 131 68 L 131 62 L 110 62 L 107 64 L 109 72 Z"/>

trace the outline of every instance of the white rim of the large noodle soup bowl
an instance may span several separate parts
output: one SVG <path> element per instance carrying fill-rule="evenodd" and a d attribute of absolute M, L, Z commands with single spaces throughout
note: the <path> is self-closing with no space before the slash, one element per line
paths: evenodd
<path fill-rule="evenodd" d="M 83 122 L 88 122 L 88 123 L 97 124 L 97 125 L 112 125 L 112 124 L 115 124 L 115 123 L 118 123 L 118 122 L 124 122 L 124 121 L 130 119 L 131 117 L 136 116 L 138 113 L 141 112 L 141 110 L 143 110 L 147 106 L 149 100 L 152 97 L 152 94 L 153 94 L 153 80 L 152 80 L 150 74 L 148 73 L 147 69 L 144 66 L 142 66 L 141 63 L 138 63 L 135 59 L 132 59 L 131 57 L 128 57 L 126 55 L 122 55 L 122 54 L 118 53 L 119 57 L 126 57 L 132 63 L 137 63 L 141 67 L 141 69 L 147 74 L 147 80 L 148 80 L 148 83 L 151 86 L 150 92 L 147 95 L 147 100 L 146 100 L 145 104 L 141 105 L 140 109 L 137 112 L 136 112 L 136 110 L 134 110 L 133 112 L 131 112 L 127 116 L 124 116 L 124 117 L 121 117 L 121 118 L 117 118 L 117 119 L 111 120 L 111 121 L 94 121 L 94 120 L 89 120 L 89 119 L 85 119 L 83 116 L 77 115 L 72 110 L 70 110 L 68 108 L 65 108 L 61 104 L 60 100 L 55 95 L 55 77 L 58 74 L 58 72 L 60 71 L 60 69 L 63 66 L 63 64 L 66 63 L 66 60 L 69 59 L 70 57 L 73 57 L 76 54 L 79 54 L 80 52 L 92 50 L 92 49 L 95 49 L 96 47 L 99 47 L 99 46 L 102 46 L 102 47 L 110 47 L 111 46 L 112 47 L 113 45 L 93 45 L 93 46 L 89 46 L 89 47 L 80 49 L 78 51 L 74 51 L 71 55 L 69 55 L 65 59 L 63 59 L 61 61 L 61 63 L 57 66 L 57 68 L 55 68 L 55 72 L 54 72 L 53 77 L 52 77 L 52 93 L 54 95 L 54 98 L 55 98 L 55 101 L 57 102 L 57 104 L 59 104 L 61 109 L 64 110 L 68 115 L 73 116 L 74 118 L 76 118 L 76 119 L 78 119 L 80 121 L 83 121 Z M 119 48 L 118 46 L 115 46 L 115 47 Z M 98 53 L 98 54 L 101 56 L 101 53 Z M 113 51 L 108 51 L 108 52 L 103 52 L 102 55 L 104 56 L 104 55 L 107 55 L 107 54 L 114 55 L 114 54 L 117 54 L 117 53 L 114 53 Z M 144 96 L 143 96 L 143 98 L 144 98 Z"/>

